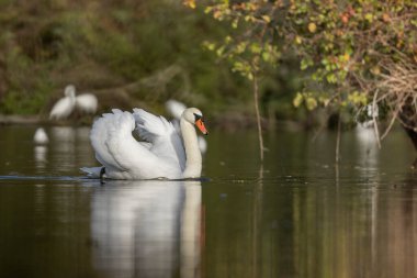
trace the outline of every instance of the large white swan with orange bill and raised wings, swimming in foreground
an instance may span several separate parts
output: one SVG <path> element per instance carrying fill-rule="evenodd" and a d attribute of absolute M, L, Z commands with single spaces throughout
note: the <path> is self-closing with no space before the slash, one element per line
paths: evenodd
<path fill-rule="evenodd" d="M 142 109 L 133 113 L 114 109 L 93 123 L 90 134 L 95 158 L 103 167 L 81 170 L 90 177 L 105 171 L 105 177 L 112 179 L 199 178 L 202 157 L 194 124 L 207 134 L 203 114 L 196 108 L 182 113 L 181 134 L 164 116 Z M 135 129 L 146 142 L 135 140 Z"/>

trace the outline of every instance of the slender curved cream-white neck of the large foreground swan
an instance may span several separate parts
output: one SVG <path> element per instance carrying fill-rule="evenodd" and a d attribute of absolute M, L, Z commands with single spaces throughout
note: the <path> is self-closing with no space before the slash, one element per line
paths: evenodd
<path fill-rule="evenodd" d="M 202 168 L 202 157 L 194 126 L 181 118 L 180 121 L 182 138 L 185 148 L 185 169 L 183 178 L 200 178 Z"/>

